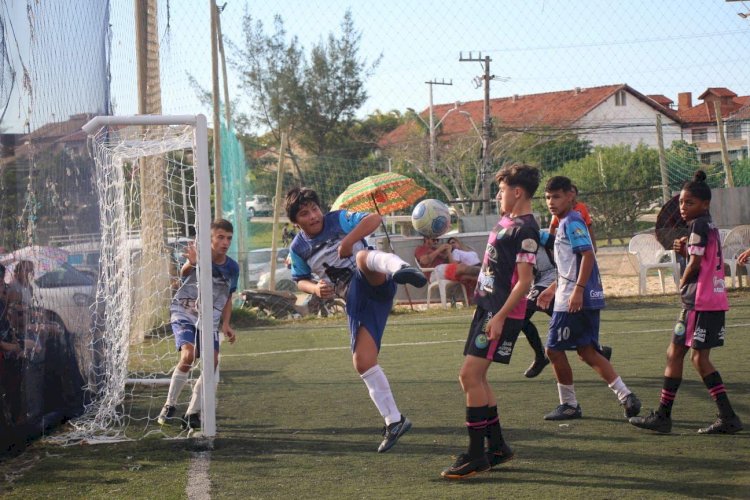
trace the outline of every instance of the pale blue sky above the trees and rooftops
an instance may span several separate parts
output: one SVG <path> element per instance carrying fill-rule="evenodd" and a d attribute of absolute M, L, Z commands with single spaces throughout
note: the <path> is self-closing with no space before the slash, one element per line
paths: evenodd
<path fill-rule="evenodd" d="M 102 2 L 56 3 L 71 7 L 72 15 L 77 16 L 74 19 L 86 14 L 95 21 L 91 13 Z M 14 26 L 28 25 L 25 0 L 0 0 L 0 4 L 0 13 L 10 16 Z M 198 101 L 188 82 L 192 75 L 202 87 L 210 88 L 209 2 L 172 0 L 169 16 L 166 5 L 165 1 L 159 4 L 164 113 L 203 112 L 210 119 L 210 110 Z M 246 12 L 262 21 L 267 30 L 278 14 L 288 35 L 297 36 L 309 53 L 329 33 L 338 34 L 347 9 L 362 35 L 360 57 L 372 62 L 382 55 L 380 65 L 367 79 L 370 98 L 359 111 L 360 117 L 375 110 L 425 109 L 429 102 L 425 82 L 432 79 L 452 82 L 433 87 L 436 104 L 481 100 L 483 91 L 473 80 L 482 74 L 482 65 L 459 62 L 459 54 L 468 57 L 469 52 L 474 57 L 480 52 L 491 57 L 490 69 L 496 77 L 491 83 L 492 97 L 616 83 L 627 83 L 644 94 L 664 94 L 675 102 L 679 92 L 692 92 L 694 104 L 708 87 L 750 94 L 750 18 L 738 15 L 750 12 L 750 1 L 227 0 L 222 28 L 227 39 L 241 44 Z M 61 14 L 53 10 L 48 16 L 59 18 Z M 98 57 L 91 45 L 103 38 L 96 30 L 87 32 L 80 22 L 70 30 L 68 22 L 69 33 L 62 36 L 55 34 L 49 27 L 53 23 L 44 17 L 40 14 L 38 22 L 45 26 L 50 46 L 60 39 L 58 43 L 72 47 L 58 47 L 52 59 L 27 58 L 40 74 L 72 71 L 75 75 L 82 71 L 82 58 Z M 115 112 L 133 114 L 137 105 L 132 0 L 111 2 L 110 24 Z M 28 43 L 21 40 L 19 47 L 28 49 Z M 231 59 L 229 48 L 228 55 Z M 93 75 L 91 86 L 100 87 L 100 74 L 85 65 L 84 69 Z M 99 94 L 83 92 L 87 85 L 80 78 L 65 78 L 65 82 L 70 80 L 74 83 L 58 89 L 50 78 L 35 82 L 42 87 L 31 106 L 36 123 L 49 119 L 51 113 L 57 117 L 72 114 L 73 108 L 80 108 L 84 94 L 91 101 L 88 106 L 95 106 Z M 231 65 L 229 83 L 233 97 L 243 95 Z M 17 126 L 28 114 L 28 99 L 22 96 L 13 101 L 17 109 L 7 113 L 0 127 Z"/>

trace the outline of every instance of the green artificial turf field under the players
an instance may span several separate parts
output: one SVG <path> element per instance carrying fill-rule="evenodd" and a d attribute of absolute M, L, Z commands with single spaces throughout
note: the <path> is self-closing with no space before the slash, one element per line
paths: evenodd
<path fill-rule="evenodd" d="M 730 293 L 727 343 L 712 353 L 746 431 L 702 436 L 716 407 L 686 363 L 669 435 L 636 429 L 606 384 L 572 359 L 583 418 L 542 416 L 557 404 L 552 370 L 522 373 L 520 338 L 509 366 L 493 365 L 511 462 L 464 481 L 440 477 L 465 449 L 457 381 L 470 310 L 391 317 L 380 364 L 414 423 L 378 454 L 382 420 L 351 366 L 342 320 L 239 331 L 222 346 L 218 436 L 113 445 L 33 444 L 0 464 L 7 498 L 750 498 L 750 294 Z M 610 300 L 601 341 L 644 403 L 658 404 L 676 296 Z M 535 316 L 537 325 L 546 317 Z M 165 389 L 166 391 L 166 389 Z M 187 391 L 182 400 L 186 399 Z M 198 464 L 196 466 L 196 463 Z M 195 489 L 195 476 L 208 481 Z M 197 493 L 196 493 L 197 491 Z"/>

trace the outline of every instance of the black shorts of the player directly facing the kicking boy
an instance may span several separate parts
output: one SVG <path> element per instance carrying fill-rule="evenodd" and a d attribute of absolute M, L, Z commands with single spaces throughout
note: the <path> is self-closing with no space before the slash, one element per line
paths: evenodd
<path fill-rule="evenodd" d="M 500 339 L 490 341 L 485 331 L 490 318 L 492 318 L 492 313 L 481 307 L 477 307 L 474 311 L 474 318 L 469 327 L 469 337 L 464 345 L 464 356 L 476 356 L 507 365 L 510 363 L 513 346 L 516 344 L 524 320 L 506 318 Z"/>

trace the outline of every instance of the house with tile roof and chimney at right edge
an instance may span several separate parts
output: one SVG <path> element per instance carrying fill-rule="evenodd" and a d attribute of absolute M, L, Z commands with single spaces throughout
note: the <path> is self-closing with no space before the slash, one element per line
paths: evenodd
<path fill-rule="evenodd" d="M 710 87 L 693 105 L 692 93 L 677 96 L 677 116 L 683 123 L 685 140 L 698 146 L 701 163 L 721 162 L 721 141 L 716 122 L 718 105 L 724 122 L 729 159 L 747 158 L 750 148 L 750 96 L 738 96 L 725 87 Z"/>

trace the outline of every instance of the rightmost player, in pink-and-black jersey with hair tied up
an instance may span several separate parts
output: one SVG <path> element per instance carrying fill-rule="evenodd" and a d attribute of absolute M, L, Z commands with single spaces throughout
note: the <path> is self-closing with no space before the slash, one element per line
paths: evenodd
<path fill-rule="evenodd" d="M 685 354 L 692 348 L 690 360 L 719 409 L 716 421 L 698 429 L 698 433 L 734 434 L 742 430 L 721 375 L 709 359 L 713 347 L 724 345 L 724 314 L 729 310 L 721 239 L 711 221 L 710 205 L 711 189 L 706 184 L 706 174 L 698 170 L 680 191 L 680 215 L 689 225 L 690 236 L 675 240 L 674 244 L 675 251 L 689 259 L 680 279 L 683 310 L 667 348 L 659 409 L 645 417 L 631 418 L 630 423 L 636 427 L 662 433 L 672 430 L 672 404 L 682 382 Z"/>

